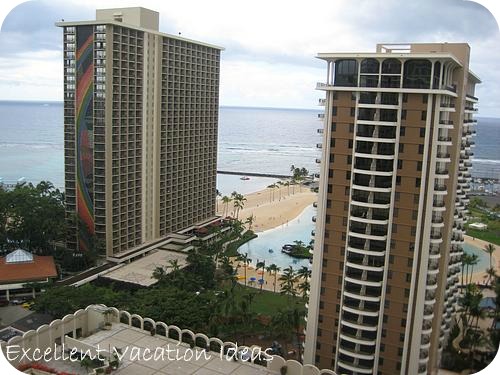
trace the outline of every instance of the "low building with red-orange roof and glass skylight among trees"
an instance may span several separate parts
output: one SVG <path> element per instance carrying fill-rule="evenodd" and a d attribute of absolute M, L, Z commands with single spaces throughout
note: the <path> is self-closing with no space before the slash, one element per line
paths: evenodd
<path fill-rule="evenodd" d="M 10 300 L 12 293 L 26 293 L 26 283 L 45 282 L 57 277 L 54 258 L 33 255 L 29 251 L 17 249 L 0 257 L 0 296 Z M 33 296 L 35 291 L 31 291 Z"/>

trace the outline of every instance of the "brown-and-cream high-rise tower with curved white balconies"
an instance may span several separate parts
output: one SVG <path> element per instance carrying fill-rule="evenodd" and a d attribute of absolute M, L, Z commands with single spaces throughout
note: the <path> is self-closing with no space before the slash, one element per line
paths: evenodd
<path fill-rule="evenodd" d="M 469 54 L 444 43 L 318 55 L 328 70 L 305 363 L 436 373 L 460 295 L 480 82 Z"/>

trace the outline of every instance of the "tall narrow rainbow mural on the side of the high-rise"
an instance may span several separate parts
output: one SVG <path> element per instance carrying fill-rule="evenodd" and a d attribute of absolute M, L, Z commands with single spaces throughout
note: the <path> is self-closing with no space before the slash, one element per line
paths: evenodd
<path fill-rule="evenodd" d="M 76 210 L 78 248 L 88 250 L 94 235 L 94 30 L 79 26 L 76 33 Z"/>

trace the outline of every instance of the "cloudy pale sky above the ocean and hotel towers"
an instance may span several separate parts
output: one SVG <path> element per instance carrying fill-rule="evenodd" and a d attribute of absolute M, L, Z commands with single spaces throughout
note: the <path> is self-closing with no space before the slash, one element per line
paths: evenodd
<path fill-rule="evenodd" d="M 222 105 L 315 108 L 326 64 L 318 52 L 374 51 L 376 43 L 467 42 L 480 115 L 500 117 L 500 34 L 494 17 L 463 0 L 32 0 L 0 33 L 0 99 L 62 100 L 62 31 L 95 8 L 160 12 L 160 31 L 226 48 Z"/>

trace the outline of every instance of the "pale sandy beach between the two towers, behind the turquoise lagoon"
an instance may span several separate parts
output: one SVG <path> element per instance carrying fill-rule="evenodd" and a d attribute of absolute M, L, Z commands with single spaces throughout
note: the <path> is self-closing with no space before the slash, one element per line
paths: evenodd
<path fill-rule="evenodd" d="M 310 191 L 308 187 L 280 187 L 264 190 L 245 195 L 247 199 L 243 209 L 239 212 L 240 220 L 253 215 L 254 223 L 252 230 L 256 233 L 276 228 L 295 219 L 309 205 L 317 200 L 317 194 Z M 219 199 L 218 214 L 226 215 L 226 207 Z M 227 214 L 234 213 L 233 202 L 227 207 Z"/>

